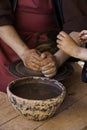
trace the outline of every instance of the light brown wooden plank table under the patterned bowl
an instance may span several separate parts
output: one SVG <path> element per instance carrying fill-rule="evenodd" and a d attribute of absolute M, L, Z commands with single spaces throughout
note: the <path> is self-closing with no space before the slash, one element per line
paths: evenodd
<path fill-rule="evenodd" d="M 66 79 L 67 95 L 56 115 L 45 121 L 26 120 L 19 116 L 0 92 L 0 130 L 87 130 L 87 84 L 81 82 L 81 67 Z"/>

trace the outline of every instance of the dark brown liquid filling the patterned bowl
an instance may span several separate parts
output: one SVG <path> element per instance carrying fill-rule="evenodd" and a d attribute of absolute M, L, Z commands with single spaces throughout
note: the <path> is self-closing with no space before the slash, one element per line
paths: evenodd
<path fill-rule="evenodd" d="M 22 84 L 21 86 L 16 85 L 11 88 L 11 92 L 16 96 L 32 100 L 50 99 L 61 94 L 60 89 L 42 83 Z"/>

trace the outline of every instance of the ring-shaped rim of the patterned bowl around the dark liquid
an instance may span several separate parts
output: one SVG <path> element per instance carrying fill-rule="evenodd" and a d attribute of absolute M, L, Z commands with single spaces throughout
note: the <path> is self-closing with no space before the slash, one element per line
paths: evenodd
<path fill-rule="evenodd" d="M 58 96 L 56 96 L 56 97 L 53 97 L 53 98 L 47 98 L 47 99 L 26 99 L 26 98 L 22 98 L 22 97 L 19 97 L 19 96 L 17 96 L 17 95 L 15 95 L 14 93 L 12 93 L 11 91 L 10 91 L 10 87 L 11 87 L 11 84 L 15 84 L 15 82 L 17 82 L 17 81 L 20 81 L 20 80 L 24 80 L 24 79 L 30 79 L 30 78 L 33 78 L 33 79 L 46 79 L 46 80 L 49 80 L 49 81 L 51 81 L 51 82 L 54 82 L 59 88 L 61 88 L 61 94 L 60 95 L 58 95 Z M 39 77 L 39 76 L 27 76 L 27 77 L 22 77 L 22 78 L 18 78 L 18 79 L 16 79 L 16 80 L 13 80 L 13 81 L 11 81 L 8 85 L 7 85 L 7 95 L 9 95 L 9 93 L 10 93 L 10 95 L 13 95 L 14 97 L 16 97 L 16 98 L 18 98 L 18 99 L 22 99 L 22 100 L 24 100 L 24 101 L 37 101 L 37 102 L 40 102 L 40 101 L 48 101 L 48 100 L 54 100 L 54 99 L 57 99 L 57 98 L 61 98 L 61 97 L 65 97 L 65 95 L 66 95 L 66 88 L 65 88 L 65 86 L 60 82 L 60 81 L 58 81 L 58 80 L 56 80 L 56 79 L 50 79 L 50 78 L 48 78 L 48 77 Z M 8 96 L 9 97 L 9 96 Z"/>

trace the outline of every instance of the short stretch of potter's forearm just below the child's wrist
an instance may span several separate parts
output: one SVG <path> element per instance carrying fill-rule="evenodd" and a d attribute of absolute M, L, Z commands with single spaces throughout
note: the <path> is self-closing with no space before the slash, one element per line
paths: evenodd
<path fill-rule="evenodd" d="M 56 61 L 58 67 L 60 67 L 70 56 L 64 53 L 62 50 L 57 51 L 54 56 L 56 57 Z"/>

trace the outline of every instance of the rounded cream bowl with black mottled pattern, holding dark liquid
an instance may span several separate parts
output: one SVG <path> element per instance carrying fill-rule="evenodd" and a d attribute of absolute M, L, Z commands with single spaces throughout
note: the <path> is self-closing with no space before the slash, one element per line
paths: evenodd
<path fill-rule="evenodd" d="M 24 77 L 8 84 L 7 95 L 20 115 L 41 121 L 55 114 L 65 98 L 66 89 L 54 79 Z"/>

